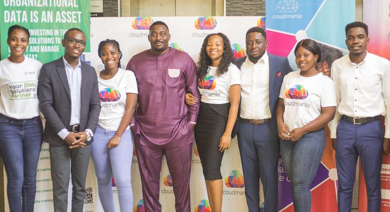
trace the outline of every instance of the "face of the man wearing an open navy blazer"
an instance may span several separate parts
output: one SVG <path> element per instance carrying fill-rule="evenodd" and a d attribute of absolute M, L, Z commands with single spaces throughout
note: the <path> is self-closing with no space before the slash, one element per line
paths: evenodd
<path fill-rule="evenodd" d="M 249 33 L 245 40 L 249 58 L 258 58 L 266 52 L 268 40 L 259 32 Z"/>

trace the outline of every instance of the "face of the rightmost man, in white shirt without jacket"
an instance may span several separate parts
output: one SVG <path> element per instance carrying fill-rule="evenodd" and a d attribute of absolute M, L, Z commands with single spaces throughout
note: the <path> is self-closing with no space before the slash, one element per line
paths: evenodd
<path fill-rule="evenodd" d="M 348 30 L 345 43 L 353 56 L 360 56 L 366 53 L 367 44 L 370 38 L 367 37 L 364 28 L 354 27 Z"/>

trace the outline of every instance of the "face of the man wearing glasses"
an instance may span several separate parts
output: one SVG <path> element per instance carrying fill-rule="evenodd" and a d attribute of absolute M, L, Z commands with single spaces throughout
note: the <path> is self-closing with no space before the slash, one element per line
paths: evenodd
<path fill-rule="evenodd" d="M 65 47 L 65 58 L 78 59 L 85 50 L 85 35 L 77 30 L 70 31 L 65 39 L 62 40 L 62 46 Z M 83 43 L 84 45 L 80 45 Z"/>

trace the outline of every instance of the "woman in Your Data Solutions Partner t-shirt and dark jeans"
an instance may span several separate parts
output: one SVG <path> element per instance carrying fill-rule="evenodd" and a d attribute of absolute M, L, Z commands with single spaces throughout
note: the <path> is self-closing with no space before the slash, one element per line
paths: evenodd
<path fill-rule="evenodd" d="M 0 155 L 7 174 L 11 212 L 34 211 L 42 143 L 37 98 L 42 64 L 24 56 L 29 38 L 28 29 L 11 26 L 7 38 L 10 55 L 0 61 Z"/>

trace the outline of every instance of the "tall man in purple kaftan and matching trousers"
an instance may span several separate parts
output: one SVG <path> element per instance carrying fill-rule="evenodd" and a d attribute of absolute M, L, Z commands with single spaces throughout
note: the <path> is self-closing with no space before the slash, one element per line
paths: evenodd
<path fill-rule="evenodd" d="M 134 143 L 146 212 L 160 212 L 159 176 L 165 155 L 172 176 L 176 212 L 190 212 L 193 127 L 199 103 L 187 106 L 184 96 L 197 90 L 196 65 L 185 52 L 168 47 L 169 30 L 155 22 L 149 31 L 151 49 L 134 55 L 126 69 L 138 84 Z"/>

